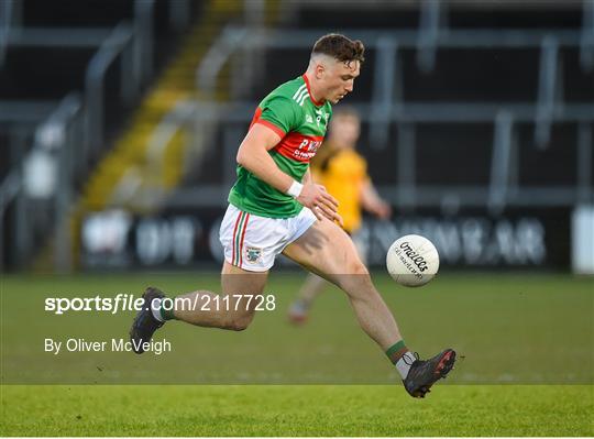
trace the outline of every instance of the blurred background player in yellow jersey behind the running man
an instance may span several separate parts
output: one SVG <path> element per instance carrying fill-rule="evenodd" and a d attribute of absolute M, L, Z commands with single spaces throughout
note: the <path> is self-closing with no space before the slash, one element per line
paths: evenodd
<path fill-rule="evenodd" d="M 361 118 L 356 110 L 339 107 L 332 114 L 329 131 L 328 140 L 311 160 L 311 175 L 339 202 L 338 212 L 343 219 L 343 229 L 353 238 L 359 256 L 365 262 L 361 241 L 356 237 L 362 223 L 362 210 L 387 219 L 392 209 L 375 190 L 367 175 L 365 158 L 355 151 L 361 134 Z M 314 300 L 326 286 L 323 278 L 309 274 L 289 308 L 289 320 L 302 323 Z"/>

